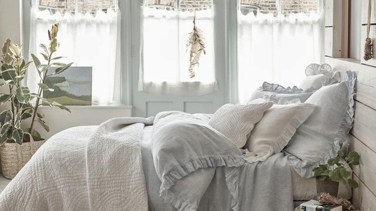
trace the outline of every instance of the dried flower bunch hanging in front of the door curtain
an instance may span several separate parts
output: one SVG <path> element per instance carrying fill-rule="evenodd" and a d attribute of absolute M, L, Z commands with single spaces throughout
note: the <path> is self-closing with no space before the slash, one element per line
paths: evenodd
<path fill-rule="evenodd" d="M 193 32 L 189 33 L 187 41 L 187 50 L 190 47 L 190 59 L 189 59 L 189 77 L 194 77 L 194 66 L 199 65 L 200 56 L 202 53 L 206 54 L 205 44 L 204 44 L 204 35 L 201 29 L 196 26 L 196 11 L 194 11 L 193 18 Z"/>

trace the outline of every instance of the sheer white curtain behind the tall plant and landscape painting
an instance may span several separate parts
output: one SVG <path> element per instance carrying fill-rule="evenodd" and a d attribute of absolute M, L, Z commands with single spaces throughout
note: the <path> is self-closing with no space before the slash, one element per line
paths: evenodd
<path fill-rule="evenodd" d="M 72 66 L 92 67 L 92 104 L 106 105 L 121 101 L 120 90 L 120 11 L 98 11 L 86 14 L 50 15 L 48 10 L 33 7 L 30 20 L 29 52 L 41 56 L 39 44 L 49 44 L 47 30 L 60 22 L 55 56 L 65 56 L 61 62 L 74 62 Z M 32 60 L 30 57 L 29 60 Z M 42 62 L 43 63 L 43 62 Z M 39 76 L 35 66 L 28 71 L 27 85 L 37 92 Z"/>

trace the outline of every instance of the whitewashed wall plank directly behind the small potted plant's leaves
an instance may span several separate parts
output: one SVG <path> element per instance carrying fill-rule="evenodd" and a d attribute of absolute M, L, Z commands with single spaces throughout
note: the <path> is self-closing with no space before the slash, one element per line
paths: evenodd
<path fill-rule="evenodd" d="M 369 147 L 364 145 L 359 139 L 350 135 L 349 140 L 349 151 L 356 151 L 361 155 L 361 163 L 358 166 L 352 166 L 353 172 L 356 176 L 361 179 L 367 187 L 376 194 L 376 152 L 371 150 Z"/>

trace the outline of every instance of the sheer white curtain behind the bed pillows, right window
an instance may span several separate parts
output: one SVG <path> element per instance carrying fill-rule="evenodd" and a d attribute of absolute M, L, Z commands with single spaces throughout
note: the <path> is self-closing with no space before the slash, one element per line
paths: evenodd
<path fill-rule="evenodd" d="M 238 11 L 238 93 L 241 103 L 264 81 L 300 84 L 311 63 L 324 60 L 324 11 L 274 17 Z"/>

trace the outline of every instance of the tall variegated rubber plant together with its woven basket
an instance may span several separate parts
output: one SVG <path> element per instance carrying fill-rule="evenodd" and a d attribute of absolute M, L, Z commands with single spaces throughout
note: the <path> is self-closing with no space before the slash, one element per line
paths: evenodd
<path fill-rule="evenodd" d="M 58 27 L 59 23 L 56 23 L 52 26 L 51 32 L 48 30 L 50 40 L 48 48 L 44 44 L 39 45 L 44 51 L 41 54 L 47 64 L 42 65 L 39 59 L 34 54 L 31 54 L 41 78 L 40 83 L 38 83 L 38 93 L 30 93 L 29 87 L 22 86 L 27 69 L 33 62 L 25 61 L 21 55 L 21 48 L 12 43 L 10 38 L 6 39 L 2 47 L 0 78 L 4 81 L 0 83 L 0 86 L 8 86 L 9 93 L 0 94 L 0 105 L 9 102 L 11 106 L 9 110 L 0 113 L 0 157 L 2 173 L 6 178 L 14 178 L 18 171 L 30 160 L 35 151 L 45 142 L 39 132 L 33 129 L 34 122 L 39 122 L 47 132 L 50 131 L 49 126 L 44 121 L 44 114 L 38 112 L 39 102 L 42 101 L 50 107 L 56 106 L 70 112 L 64 105 L 57 102 L 48 102 L 41 97 L 42 90 L 53 91 L 53 89 L 44 84 L 45 78 L 49 75 L 60 74 L 72 65 L 72 63 L 54 62 L 62 58 L 52 56 L 59 47 L 56 38 Z M 48 70 L 52 65 L 59 67 L 53 73 L 48 74 Z M 36 99 L 35 105 L 31 103 L 34 98 Z M 24 124 L 22 122 L 29 118 L 32 118 L 31 126 L 23 127 Z"/>

